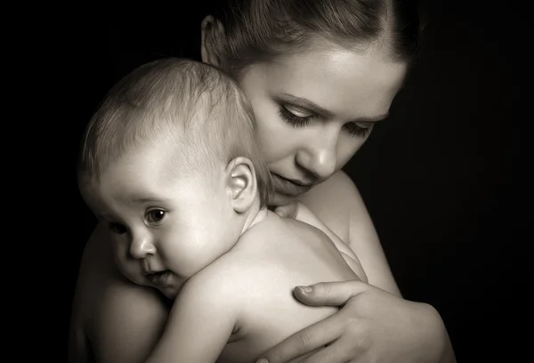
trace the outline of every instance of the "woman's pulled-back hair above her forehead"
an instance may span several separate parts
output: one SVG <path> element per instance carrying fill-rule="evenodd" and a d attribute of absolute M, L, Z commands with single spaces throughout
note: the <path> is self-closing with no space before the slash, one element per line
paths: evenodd
<path fill-rule="evenodd" d="M 258 61 L 302 52 L 322 38 L 347 49 L 380 45 L 409 63 L 419 43 L 417 2 L 407 0 L 227 0 L 215 8 L 223 69 L 238 76 Z"/>

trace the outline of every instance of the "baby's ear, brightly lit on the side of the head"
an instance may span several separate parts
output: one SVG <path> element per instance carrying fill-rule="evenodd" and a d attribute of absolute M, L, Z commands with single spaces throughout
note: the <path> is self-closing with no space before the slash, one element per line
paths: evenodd
<path fill-rule="evenodd" d="M 231 205 L 237 213 L 245 213 L 255 202 L 258 187 L 255 169 L 247 157 L 236 157 L 226 166 L 227 188 Z"/>

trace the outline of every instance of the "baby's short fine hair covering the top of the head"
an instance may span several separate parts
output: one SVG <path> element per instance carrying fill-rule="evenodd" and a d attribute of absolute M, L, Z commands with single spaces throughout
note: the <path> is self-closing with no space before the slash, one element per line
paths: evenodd
<path fill-rule="evenodd" d="M 261 204 L 269 202 L 271 173 L 255 141 L 253 111 L 239 86 L 222 71 L 177 58 L 134 69 L 111 88 L 89 121 L 78 175 L 98 180 L 118 158 L 160 144 L 172 145 L 182 156 L 180 165 L 170 164 L 178 169 L 169 170 L 171 176 L 206 176 L 216 162 L 249 158 Z"/>

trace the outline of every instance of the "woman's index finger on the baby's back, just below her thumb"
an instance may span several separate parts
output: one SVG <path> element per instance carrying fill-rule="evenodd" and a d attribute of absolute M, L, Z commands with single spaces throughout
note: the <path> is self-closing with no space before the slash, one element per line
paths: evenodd
<path fill-rule="evenodd" d="M 272 347 L 262 357 L 269 363 L 286 363 L 291 359 L 303 356 L 323 345 L 334 342 L 343 329 L 343 322 L 336 315 L 321 320 L 310 327 L 289 336 L 286 340 Z M 258 360 L 262 362 L 262 360 Z"/>

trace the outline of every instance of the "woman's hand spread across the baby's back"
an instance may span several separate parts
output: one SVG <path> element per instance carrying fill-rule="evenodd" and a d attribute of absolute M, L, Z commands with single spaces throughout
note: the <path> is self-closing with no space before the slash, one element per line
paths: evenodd
<path fill-rule="evenodd" d="M 295 297 L 307 305 L 342 309 L 271 348 L 263 354 L 269 363 L 456 362 L 440 314 L 428 304 L 361 281 L 320 283 L 308 290 L 296 287 Z"/>

